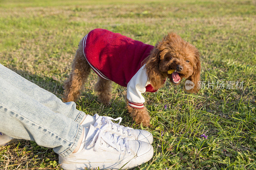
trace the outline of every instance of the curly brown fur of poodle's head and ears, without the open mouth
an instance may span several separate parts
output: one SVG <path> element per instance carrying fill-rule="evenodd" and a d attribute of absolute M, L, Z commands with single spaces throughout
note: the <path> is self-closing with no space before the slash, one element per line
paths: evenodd
<path fill-rule="evenodd" d="M 179 71 L 180 84 L 182 78 L 192 81 L 195 86 L 188 92 L 198 92 L 197 82 L 200 80 L 201 62 L 198 49 L 184 41 L 179 35 L 169 33 L 158 42 L 146 60 L 146 72 L 148 80 L 155 89 L 163 85 L 163 80 L 168 77 L 172 81 L 172 75 L 167 74 L 168 70 L 176 70 L 177 66 L 182 66 Z"/>

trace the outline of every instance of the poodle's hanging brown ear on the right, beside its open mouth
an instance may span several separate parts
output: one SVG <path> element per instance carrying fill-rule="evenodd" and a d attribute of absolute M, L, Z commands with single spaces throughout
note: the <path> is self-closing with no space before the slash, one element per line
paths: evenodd
<path fill-rule="evenodd" d="M 197 93 L 199 91 L 198 82 L 200 81 L 201 61 L 200 61 L 200 52 L 198 50 L 195 52 L 195 58 L 196 58 L 196 65 L 194 66 L 194 72 L 191 76 L 189 76 L 186 79 L 186 81 L 190 80 L 194 83 L 194 87 L 190 90 L 187 90 L 188 92 L 191 92 L 191 93 L 193 92 Z"/>

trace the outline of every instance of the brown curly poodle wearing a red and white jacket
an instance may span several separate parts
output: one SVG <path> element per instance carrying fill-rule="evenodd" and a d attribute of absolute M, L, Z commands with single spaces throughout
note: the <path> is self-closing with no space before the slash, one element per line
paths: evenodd
<path fill-rule="evenodd" d="M 182 78 L 186 78 L 194 83 L 194 88 L 188 90 L 188 92 L 198 92 L 197 82 L 200 80 L 201 71 L 200 53 L 195 46 L 184 41 L 179 35 L 169 33 L 162 41 L 156 43 L 156 46 L 152 46 L 151 48 L 150 45 L 143 44 L 140 41 L 134 41 L 118 33 L 112 33 L 103 29 L 95 30 L 91 35 L 90 33 L 87 34 L 89 38 L 86 35 L 79 42 L 72 64 L 72 71 L 64 84 L 64 102 L 76 101 L 78 99 L 91 68 L 99 75 L 95 85 L 95 91 L 98 92 L 98 99 L 106 105 L 109 104 L 112 95 L 112 81 L 119 85 L 127 86 L 128 100 L 126 108 L 133 120 L 138 124 L 142 123 L 143 126 L 149 126 L 150 121 L 148 111 L 143 105 L 145 99 L 141 95 L 145 91 L 150 91 L 147 89 L 148 85 L 151 85 L 149 87 L 149 89 L 151 88 L 150 92 L 155 92 L 163 86 L 166 77 L 175 85 L 180 84 Z M 100 38 L 101 35 L 104 35 L 104 37 Z M 108 39 L 108 37 L 111 38 Z M 85 42 L 88 49 L 85 47 Z M 104 43 L 107 45 L 102 45 Z M 111 43 L 114 45 L 110 46 L 109 44 Z M 128 46 L 129 48 L 127 48 Z M 92 48 L 92 51 L 90 51 L 90 48 Z M 143 51 L 142 53 L 140 53 L 141 50 Z M 133 53 L 141 55 L 141 59 L 127 60 Z M 122 65 L 122 61 L 125 61 L 125 66 L 109 67 L 108 64 L 112 60 L 103 60 L 104 57 L 98 63 L 91 60 L 91 58 L 94 59 L 96 56 L 113 57 L 113 54 L 122 59 L 115 58 L 115 61 L 113 61 L 114 63 L 116 62 L 115 65 Z M 91 58 L 90 55 L 92 56 Z M 96 64 L 93 65 L 93 63 Z M 99 67 L 96 68 L 95 65 L 99 65 Z M 127 65 L 132 73 L 129 72 L 131 74 L 130 77 L 127 76 L 129 74 L 126 74 L 126 80 L 123 80 L 122 75 L 125 74 L 123 72 L 127 69 Z M 133 67 L 134 65 L 139 66 Z M 116 68 L 116 70 L 111 71 L 113 68 Z M 170 74 L 168 74 L 168 70 L 175 71 L 173 73 L 169 72 Z M 117 77 L 116 74 L 119 75 L 119 79 L 115 79 Z M 120 75 L 123 79 L 120 78 Z M 145 78 L 146 80 L 142 80 Z M 144 84 L 134 83 L 136 81 L 144 81 Z M 142 87 L 138 89 L 138 85 L 141 84 L 143 84 Z M 136 100 L 132 98 L 136 98 Z"/>

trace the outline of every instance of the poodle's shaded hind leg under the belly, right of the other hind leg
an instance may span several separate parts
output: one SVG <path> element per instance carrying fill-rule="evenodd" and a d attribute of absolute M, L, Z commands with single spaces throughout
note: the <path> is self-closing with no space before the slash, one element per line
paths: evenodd
<path fill-rule="evenodd" d="M 105 80 L 98 76 L 98 81 L 94 87 L 95 91 L 98 92 L 98 99 L 105 105 L 110 104 L 112 98 L 112 81 Z"/>

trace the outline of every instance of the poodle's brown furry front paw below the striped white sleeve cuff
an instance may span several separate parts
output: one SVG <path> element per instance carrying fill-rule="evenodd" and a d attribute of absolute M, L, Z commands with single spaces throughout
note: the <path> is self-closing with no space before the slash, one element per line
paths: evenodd
<path fill-rule="evenodd" d="M 142 109 L 133 108 L 129 106 L 128 100 L 126 100 L 126 109 L 130 113 L 132 120 L 135 121 L 137 124 L 142 123 L 143 126 L 150 126 L 150 116 L 146 107 L 143 107 Z"/>

